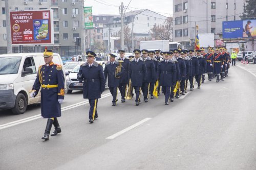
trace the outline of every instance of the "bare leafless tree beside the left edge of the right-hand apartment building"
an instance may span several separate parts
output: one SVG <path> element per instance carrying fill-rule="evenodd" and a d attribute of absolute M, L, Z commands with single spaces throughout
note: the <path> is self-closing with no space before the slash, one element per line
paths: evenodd
<path fill-rule="evenodd" d="M 173 17 L 167 17 L 162 25 L 155 25 L 151 29 L 152 37 L 155 40 L 173 40 Z"/>

